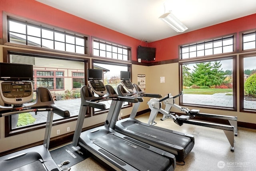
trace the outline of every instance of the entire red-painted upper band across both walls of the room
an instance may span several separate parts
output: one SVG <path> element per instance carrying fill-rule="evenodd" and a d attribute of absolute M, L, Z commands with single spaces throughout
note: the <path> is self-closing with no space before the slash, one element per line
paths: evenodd
<path fill-rule="evenodd" d="M 56 8 L 46 6 L 35 0 L 0 0 L 0 10 L 60 28 L 72 30 L 74 32 L 95 36 L 104 40 L 129 46 L 132 48 L 132 60 L 134 61 L 137 60 L 136 52 L 138 45 L 144 46 L 144 44 L 141 44 L 141 40 L 115 32 L 114 30 L 110 30 L 82 18 L 62 12 Z M 231 33 L 238 34 L 241 31 L 254 28 L 256 28 L 256 14 L 156 42 L 151 42 L 148 46 L 156 48 L 155 62 L 178 59 L 179 45 L 207 40 Z M 0 14 L 0 32 L 2 33 L 2 13 Z M 0 38 L 2 38 L 2 34 L 0 34 Z M 237 38 L 237 40 L 239 40 L 239 34 L 237 35 Z"/>

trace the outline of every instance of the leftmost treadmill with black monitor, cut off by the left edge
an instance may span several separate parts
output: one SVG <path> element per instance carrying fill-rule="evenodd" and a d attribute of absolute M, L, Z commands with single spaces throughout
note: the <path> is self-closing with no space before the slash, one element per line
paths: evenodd
<path fill-rule="evenodd" d="M 33 66 L 0 63 L 0 117 L 18 113 L 47 111 L 46 129 L 42 145 L 17 151 L 0 157 L 0 170 L 3 171 L 61 171 L 48 151 L 54 113 L 70 117 L 67 110 L 54 104 L 48 89 L 38 87 L 36 100 L 33 99 Z"/>

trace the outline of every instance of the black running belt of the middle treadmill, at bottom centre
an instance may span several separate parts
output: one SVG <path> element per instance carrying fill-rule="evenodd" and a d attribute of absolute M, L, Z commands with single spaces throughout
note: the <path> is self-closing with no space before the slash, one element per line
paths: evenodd
<path fill-rule="evenodd" d="M 138 170 L 160 171 L 172 165 L 167 157 L 140 147 L 113 134 L 93 140 L 96 145 Z"/>

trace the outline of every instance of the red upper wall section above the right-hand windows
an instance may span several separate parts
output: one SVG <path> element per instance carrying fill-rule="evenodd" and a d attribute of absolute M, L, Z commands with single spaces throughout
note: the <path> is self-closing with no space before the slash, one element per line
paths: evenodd
<path fill-rule="evenodd" d="M 178 46 L 199 42 L 227 34 L 237 33 L 237 47 L 239 49 L 239 32 L 256 28 L 256 14 L 250 16 L 230 20 L 228 22 L 216 24 L 210 27 L 202 28 L 192 32 L 180 34 L 156 42 L 148 44 L 150 47 L 156 48 L 156 61 L 173 60 L 179 58 Z M 170 28 L 171 29 L 171 28 Z"/>

